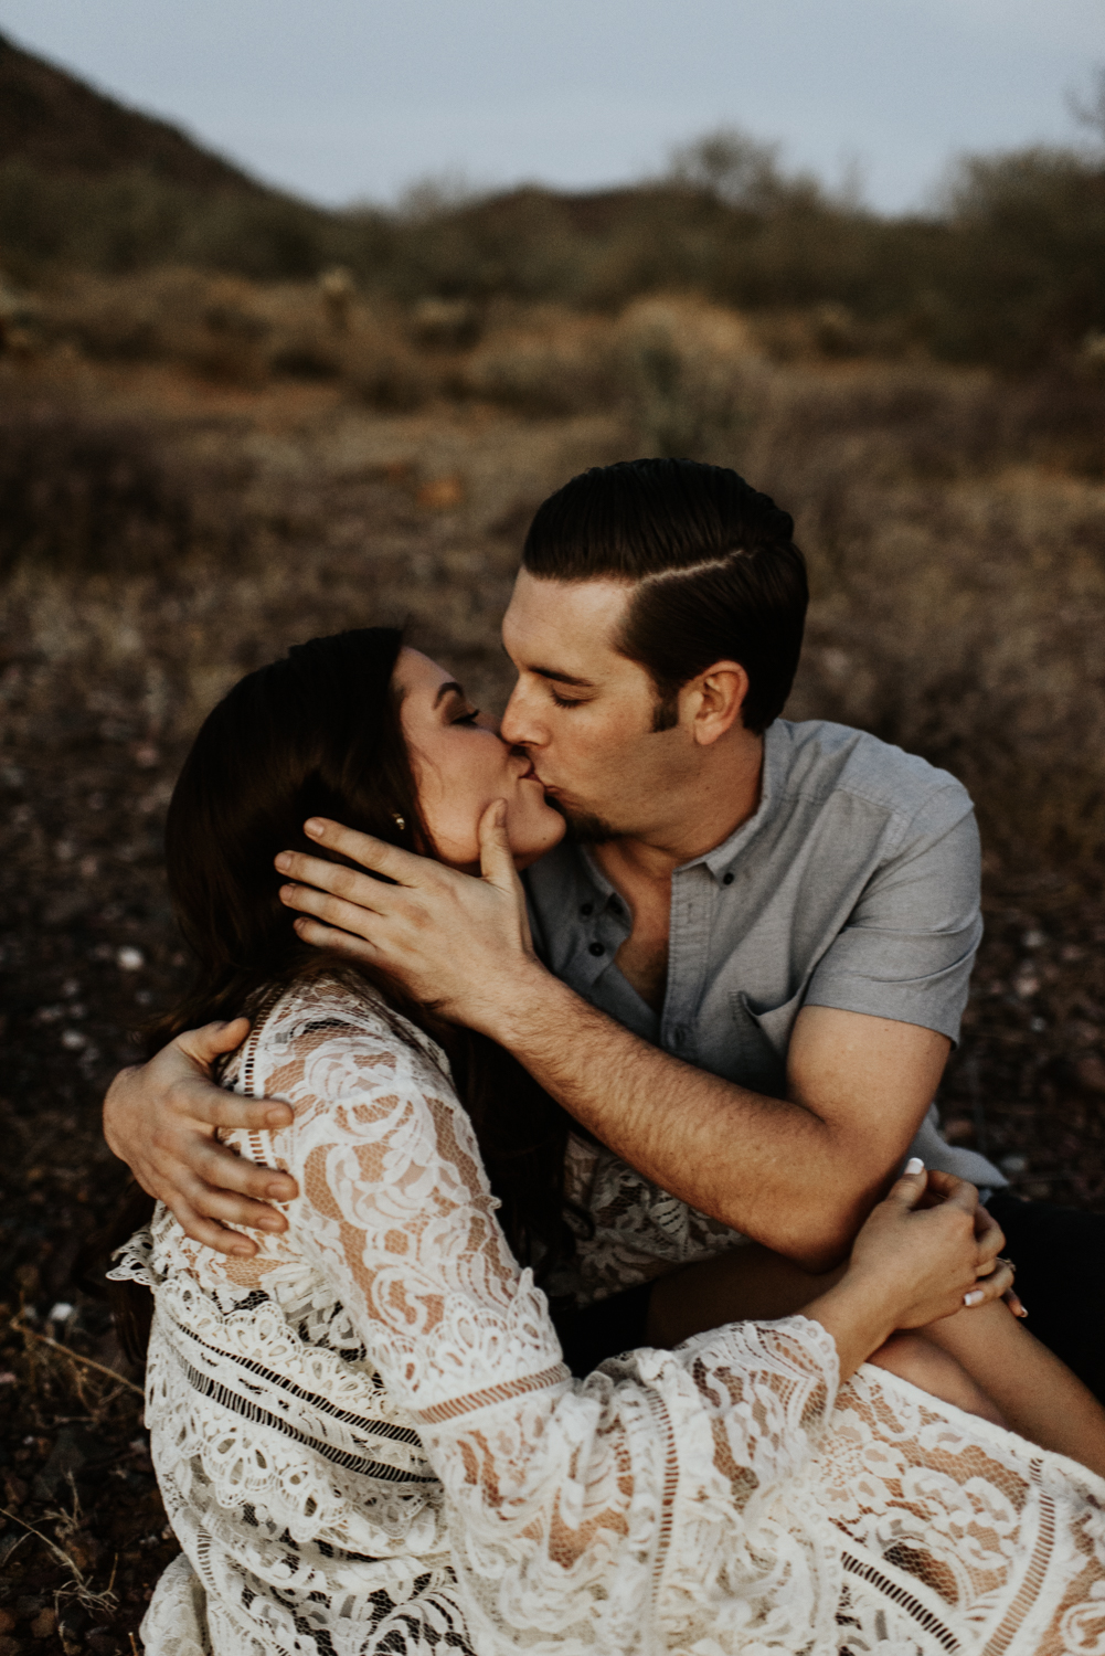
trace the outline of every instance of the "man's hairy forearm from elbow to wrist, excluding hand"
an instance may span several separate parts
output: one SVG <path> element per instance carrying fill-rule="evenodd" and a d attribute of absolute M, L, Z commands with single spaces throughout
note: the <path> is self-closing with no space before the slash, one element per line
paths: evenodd
<path fill-rule="evenodd" d="M 812 1110 L 673 1058 L 542 967 L 480 1027 L 661 1189 L 807 1268 L 835 1264 L 881 1194 Z"/>

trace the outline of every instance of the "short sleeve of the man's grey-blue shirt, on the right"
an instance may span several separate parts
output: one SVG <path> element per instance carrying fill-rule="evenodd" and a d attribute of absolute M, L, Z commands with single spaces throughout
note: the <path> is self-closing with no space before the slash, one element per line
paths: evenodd
<path fill-rule="evenodd" d="M 982 937 L 979 831 L 959 783 L 910 820 L 825 951 L 805 1005 L 866 1012 L 959 1038 Z"/>

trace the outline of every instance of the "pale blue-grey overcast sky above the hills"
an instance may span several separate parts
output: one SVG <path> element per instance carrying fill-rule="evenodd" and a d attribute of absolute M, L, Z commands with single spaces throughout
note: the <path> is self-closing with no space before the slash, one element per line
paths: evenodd
<path fill-rule="evenodd" d="M 0 30 L 326 202 L 601 185 L 712 128 L 881 209 L 951 154 L 1078 137 L 1105 0 L 0 0 Z"/>

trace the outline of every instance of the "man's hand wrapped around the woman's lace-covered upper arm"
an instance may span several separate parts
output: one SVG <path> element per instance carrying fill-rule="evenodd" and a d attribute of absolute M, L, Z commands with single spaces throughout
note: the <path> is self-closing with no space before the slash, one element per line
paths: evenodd
<path fill-rule="evenodd" d="M 149 1196 L 172 1211 L 195 1242 L 249 1259 L 257 1244 L 229 1225 L 287 1230 L 268 1201 L 298 1194 L 287 1172 L 257 1167 L 215 1139 L 219 1128 L 285 1128 L 292 1108 L 240 1098 L 212 1081 L 215 1060 L 249 1035 L 249 1022 L 186 1030 L 151 1058 L 116 1075 L 104 1098 L 104 1138 Z"/>

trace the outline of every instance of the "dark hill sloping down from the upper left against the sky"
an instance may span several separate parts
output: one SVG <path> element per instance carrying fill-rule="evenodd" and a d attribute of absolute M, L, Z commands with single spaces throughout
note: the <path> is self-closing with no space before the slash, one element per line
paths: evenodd
<path fill-rule="evenodd" d="M 128 109 L 0 35 L 0 164 L 12 161 L 40 174 L 142 171 L 194 190 L 268 194 L 179 128 Z"/>

